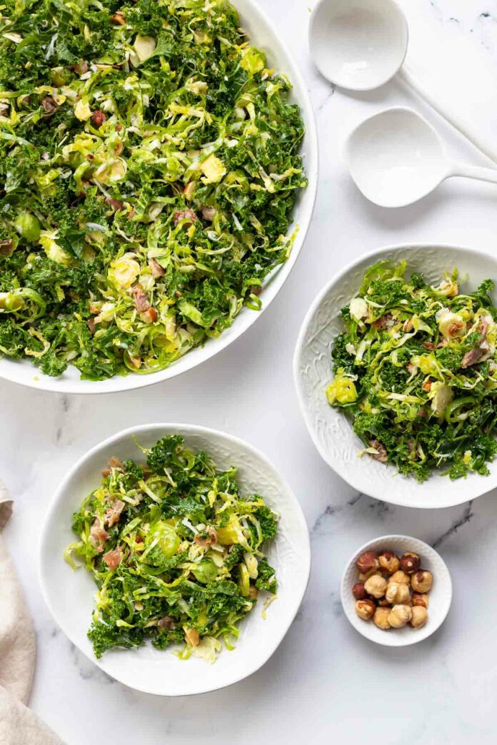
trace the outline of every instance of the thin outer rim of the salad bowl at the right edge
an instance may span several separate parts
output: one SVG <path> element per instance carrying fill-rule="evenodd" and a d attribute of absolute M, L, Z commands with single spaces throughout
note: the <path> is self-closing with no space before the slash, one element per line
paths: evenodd
<path fill-rule="evenodd" d="M 355 469 L 347 469 L 346 475 L 342 474 L 341 472 L 338 472 L 338 470 L 335 467 L 335 462 L 332 460 L 331 457 L 329 457 L 329 454 L 327 453 L 326 449 L 321 447 L 320 441 L 317 439 L 316 434 L 314 433 L 314 427 L 311 425 L 310 418 L 308 416 L 308 411 L 306 408 L 305 399 L 303 396 L 303 390 L 302 385 L 300 381 L 300 357 L 302 354 L 303 349 L 303 340 L 306 337 L 306 334 L 308 332 L 308 326 L 311 323 L 312 318 L 314 317 L 314 314 L 317 311 L 317 308 L 320 307 L 321 302 L 323 302 L 324 297 L 329 293 L 329 291 L 335 286 L 339 285 L 341 280 L 344 279 L 344 277 L 355 269 L 359 264 L 362 264 L 366 259 L 370 259 L 371 264 L 373 264 L 375 261 L 379 261 L 379 259 L 382 259 L 382 257 L 387 256 L 388 254 L 392 253 L 393 251 L 399 251 L 399 250 L 405 250 L 406 252 L 406 258 L 408 258 L 408 252 L 413 248 L 420 248 L 420 249 L 428 249 L 428 248 L 440 248 L 440 249 L 449 249 L 449 250 L 459 250 L 464 251 L 467 253 L 471 253 L 472 256 L 481 257 L 483 259 L 490 259 L 494 263 L 497 264 L 497 256 L 494 256 L 490 251 L 481 250 L 478 248 L 469 248 L 468 246 L 463 246 L 461 244 L 456 243 L 444 243 L 442 241 L 410 241 L 408 243 L 397 243 L 397 244 L 390 244 L 388 246 L 383 246 L 381 248 L 375 249 L 373 251 L 364 251 L 364 253 L 361 253 L 361 256 L 358 256 L 358 258 L 353 259 L 353 261 L 350 261 L 349 264 L 346 264 L 338 273 L 336 273 L 334 276 L 332 276 L 332 279 L 329 280 L 329 282 L 326 282 L 326 285 L 324 285 L 323 288 L 317 293 L 316 297 L 314 297 L 314 300 L 311 302 L 310 307 L 308 308 L 308 311 L 306 312 L 306 316 L 304 317 L 302 326 L 300 326 L 300 331 L 297 336 L 297 342 L 295 343 L 295 349 L 294 349 L 294 358 L 293 358 L 293 373 L 294 373 L 294 387 L 297 392 L 297 400 L 299 402 L 300 407 L 300 413 L 303 416 L 304 422 L 306 422 L 306 428 L 308 431 L 308 434 L 311 437 L 312 442 L 314 443 L 314 447 L 317 449 L 320 456 L 323 458 L 325 463 L 330 466 L 330 468 L 333 469 L 333 471 L 344 481 L 346 481 L 349 486 L 352 486 L 353 489 L 356 489 L 359 493 L 365 493 L 370 497 L 373 497 L 375 499 L 378 499 L 382 502 L 388 502 L 389 504 L 397 504 L 399 507 L 410 507 L 412 509 L 419 509 L 419 510 L 444 510 L 448 509 L 449 507 L 457 507 L 459 504 L 464 504 L 468 501 L 468 498 L 476 499 L 478 497 L 483 496 L 484 494 L 487 494 L 487 492 L 490 492 L 492 489 L 496 488 L 496 485 L 489 484 L 488 486 L 485 486 L 484 484 L 484 477 L 481 477 L 482 482 L 482 490 L 480 493 L 476 495 L 471 495 L 471 497 L 468 497 L 467 495 L 464 496 L 461 494 L 460 498 L 458 498 L 456 501 L 452 501 L 449 504 L 420 504 L 419 498 L 409 498 L 409 499 L 402 499 L 399 500 L 396 498 L 396 492 L 395 490 L 392 490 L 392 493 L 390 495 L 390 492 L 387 493 L 385 496 L 384 491 L 381 491 L 380 489 L 377 489 L 375 486 L 370 486 L 370 489 L 368 489 L 367 492 L 364 492 L 364 484 L 359 483 L 358 479 L 355 478 Z"/>

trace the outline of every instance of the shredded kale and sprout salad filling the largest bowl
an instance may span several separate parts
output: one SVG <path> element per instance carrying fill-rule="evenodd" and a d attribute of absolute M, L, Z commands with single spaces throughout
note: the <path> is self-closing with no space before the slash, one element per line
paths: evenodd
<path fill-rule="evenodd" d="M 168 367 L 291 251 L 304 127 L 225 0 L 5 0 L 0 352 Z"/>

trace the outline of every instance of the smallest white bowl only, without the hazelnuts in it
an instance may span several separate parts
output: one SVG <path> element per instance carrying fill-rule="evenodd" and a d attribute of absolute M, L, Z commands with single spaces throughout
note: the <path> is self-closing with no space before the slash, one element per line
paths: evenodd
<path fill-rule="evenodd" d="M 373 619 L 362 621 L 355 612 L 355 597 L 352 595 L 352 587 L 358 581 L 358 571 L 355 562 L 364 551 L 390 550 L 401 557 L 405 551 L 414 551 L 421 558 L 421 568 L 428 569 L 433 574 L 433 586 L 428 592 L 428 621 L 420 629 L 405 626 L 402 629 L 379 629 Z M 408 644 L 417 644 L 418 641 L 431 636 L 445 621 L 452 600 L 452 580 L 446 562 L 440 554 L 428 543 L 410 536 L 382 536 L 374 541 L 365 543 L 349 559 L 342 577 L 341 600 L 344 612 L 352 626 L 370 641 L 376 644 L 384 644 L 385 647 L 407 647 Z"/>

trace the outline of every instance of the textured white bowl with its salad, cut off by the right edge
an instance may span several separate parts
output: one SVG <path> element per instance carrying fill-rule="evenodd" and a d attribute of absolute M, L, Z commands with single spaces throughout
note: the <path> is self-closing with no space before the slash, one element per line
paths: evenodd
<path fill-rule="evenodd" d="M 387 247 L 314 300 L 294 355 L 306 425 L 358 492 L 451 507 L 497 486 L 497 260 Z"/>

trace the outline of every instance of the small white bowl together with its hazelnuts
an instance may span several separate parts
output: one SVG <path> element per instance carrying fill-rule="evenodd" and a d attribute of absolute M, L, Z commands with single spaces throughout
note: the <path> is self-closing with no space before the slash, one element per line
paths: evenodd
<path fill-rule="evenodd" d="M 344 571 L 341 600 L 352 626 L 370 641 L 404 647 L 430 636 L 452 600 L 449 569 L 427 543 L 382 536 L 354 554 Z"/>

